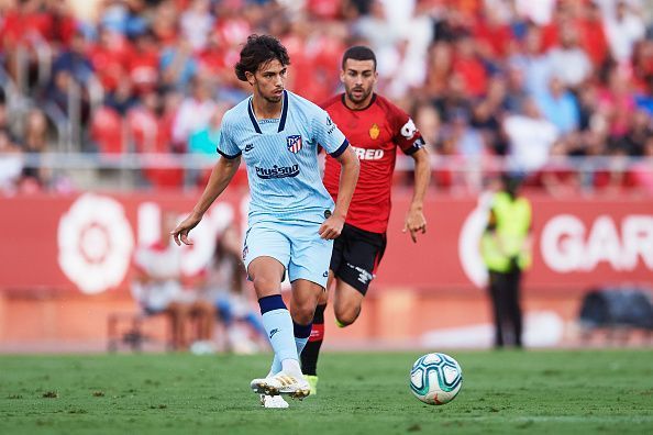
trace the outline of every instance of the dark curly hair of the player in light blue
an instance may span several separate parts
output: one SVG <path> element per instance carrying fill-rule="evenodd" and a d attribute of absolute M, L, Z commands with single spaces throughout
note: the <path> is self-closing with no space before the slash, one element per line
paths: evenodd
<path fill-rule="evenodd" d="M 277 59 L 283 66 L 290 65 L 290 57 L 279 40 L 269 35 L 250 35 L 243 49 L 241 59 L 235 65 L 239 80 L 247 81 L 245 72 L 256 72 L 262 65 Z"/>

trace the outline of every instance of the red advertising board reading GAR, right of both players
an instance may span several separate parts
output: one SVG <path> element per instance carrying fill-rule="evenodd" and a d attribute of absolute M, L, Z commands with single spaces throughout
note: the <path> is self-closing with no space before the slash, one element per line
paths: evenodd
<path fill-rule="evenodd" d="M 533 265 L 525 286 L 533 290 L 587 289 L 617 282 L 652 282 L 653 201 L 650 199 L 552 199 L 531 196 Z M 409 197 L 397 196 L 389 249 L 378 283 L 456 289 L 484 282 L 478 238 L 487 199 L 431 197 L 428 234 L 413 244 L 401 236 Z"/>

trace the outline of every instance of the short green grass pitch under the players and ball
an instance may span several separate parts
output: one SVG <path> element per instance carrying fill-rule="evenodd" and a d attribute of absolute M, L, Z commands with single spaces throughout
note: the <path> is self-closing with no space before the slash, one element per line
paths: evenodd
<path fill-rule="evenodd" d="M 653 434 L 652 350 L 447 352 L 450 404 L 412 397 L 413 353 L 325 353 L 319 395 L 259 408 L 270 355 L 0 356 L 0 434 Z"/>

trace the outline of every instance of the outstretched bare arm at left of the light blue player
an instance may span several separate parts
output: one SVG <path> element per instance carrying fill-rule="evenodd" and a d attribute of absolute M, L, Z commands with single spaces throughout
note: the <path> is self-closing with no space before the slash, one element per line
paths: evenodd
<path fill-rule="evenodd" d="M 220 193 L 226 189 L 226 186 L 229 186 L 229 182 L 235 175 L 240 165 L 240 155 L 233 158 L 221 157 L 218 163 L 215 163 L 209 182 L 199 201 L 192 208 L 192 212 L 170 233 L 178 246 L 180 246 L 181 243 L 185 245 L 192 245 L 192 242 L 188 239 L 188 233 L 199 224 L 207 210 L 209 210 L 209 207 L 211 207 Z"/>

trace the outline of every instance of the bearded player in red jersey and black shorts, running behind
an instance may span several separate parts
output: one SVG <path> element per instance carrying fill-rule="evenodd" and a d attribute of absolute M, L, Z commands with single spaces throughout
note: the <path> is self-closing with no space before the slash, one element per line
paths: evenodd
<path fill-rule="evenodd" d="M 339 326 L 356 321 L 369 282 L 386 248 L 386 230 L 390 215 L 390 189 L 397 148 L 414 159 L 414 193 L 406 215 L 405 232 L 413 242 L 425 233 L 422 212 L 431 176 L 424 141 L 414 123 L 401 109 L 374 92 L 377 81 L 376 56 L 364 46 L 348 48 L 342 59 L 340 79 L 345 92 L 321 104 L 346 135 L 361 161 L 358 183 L 354 191 L 344 228 L 335 239 L 329 282 L 335 278 L 333 310 Z M 340 165 L 326 156 L 324 186 L 335 199 Z M 301 354 L 302 370 L 317 390 L 317 362 L 324 334 L 323 293 L 316 310 L 308 345 Z"/>

